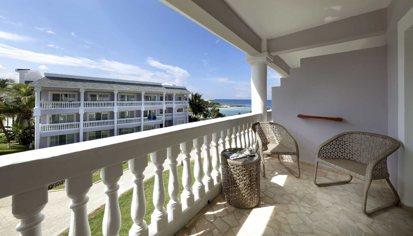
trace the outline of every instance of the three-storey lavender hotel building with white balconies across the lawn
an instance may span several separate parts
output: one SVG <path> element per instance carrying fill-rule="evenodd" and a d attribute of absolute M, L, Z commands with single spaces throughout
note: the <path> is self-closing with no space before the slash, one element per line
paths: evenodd
<path fill-rule="evenodd" d="M 188 123 L 185 87 L 45 73 L 36 91 L 35 148 Z"/>

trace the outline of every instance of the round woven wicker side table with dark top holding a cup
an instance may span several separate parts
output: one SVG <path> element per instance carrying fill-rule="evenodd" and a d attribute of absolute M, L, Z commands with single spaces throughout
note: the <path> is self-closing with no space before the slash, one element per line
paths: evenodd
<path fill-rule="evenodd" d="M 226 150 L 221 152 L 222 192 L 225 200 L 234 207 L 251 208 L 259 203 L 261 158 L 258 153 L 241 159 L 231 160 Z"/>

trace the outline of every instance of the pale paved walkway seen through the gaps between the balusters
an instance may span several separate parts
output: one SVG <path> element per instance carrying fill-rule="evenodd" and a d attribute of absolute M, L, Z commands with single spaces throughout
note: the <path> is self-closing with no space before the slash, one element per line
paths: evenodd
<path fill-rule="evenodd" d="M 203 153 L 202 153 L 203 154 Z M 181 163 L 183 154 L 178 156 L 178 164 Z M 203 157 L 203 155 L 202 155 Z M 191 152 L 191 160 L 194 160 L 194 150 Z M 169 159 L 166 159 L 164 163 L 165 170 L 169 169 Z M 145 180 L 154 175 L 154 164 L 148 163 L 145 169 Z M 119 180 L 118 194 L 128 191 L 133 187 L 132 176 L 130 169 L 123 172 L 123 176 Z M 181 182 L 181 180 L 179 180 Z M 88 214 L 105 203 L 104 194 L 105 185 L 102 181 L 93 184 L 88 192 L 89 202 Z M 166 193 L 168 194 L 168 193 Z M 45 219 L 42 222 L 43 235 L 57 235 L 67 229 L 70 224 L 71 210 L 69 209 L 69 203 L 71 200 L 67 197 L 66 191 L 49 192 L 49 202 L 42 213 L 45 215 Z M 152 204 L 152 203 L 147 203 Z M 12 215 L 12 197 L 0 199 L 0 235 L 19 235 L 16 231 L 16 225 L 19 220 Z"/>

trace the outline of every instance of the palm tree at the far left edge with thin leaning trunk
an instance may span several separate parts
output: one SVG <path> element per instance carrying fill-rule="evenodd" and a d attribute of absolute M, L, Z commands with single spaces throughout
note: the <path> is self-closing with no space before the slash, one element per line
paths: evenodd
<path fill-rule="evenodd" d="M 6 95 L 9 91 L 11 91 L 11 87 L 14 86 L 15 82 L 12 79 L 2 79 L 0 78 L 0 127 L 4 133 L 4 136 L 7 139 L 7 148 L 11 148 L 11 142 L 10 142 L 10 137 L 9 133 L 6 130 L 3 121 L 6 118 L 14 118 L 15 116 L 15 110 L 13 107 L 7 103 L 7 98 Z"/>

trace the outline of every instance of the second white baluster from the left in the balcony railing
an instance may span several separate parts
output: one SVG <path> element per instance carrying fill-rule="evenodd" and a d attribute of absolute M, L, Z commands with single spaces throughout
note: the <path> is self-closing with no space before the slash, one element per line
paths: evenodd
<path fill-rule="evenodd" d="M 71 199 L 69 236 L 90 235 L 88 212 L 86 203 L 89 197 L 86 195 L 92 187 L 92 172 L 66 179 L 66 194 Z"/>

